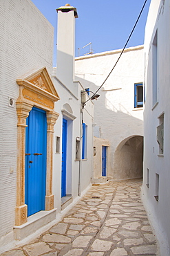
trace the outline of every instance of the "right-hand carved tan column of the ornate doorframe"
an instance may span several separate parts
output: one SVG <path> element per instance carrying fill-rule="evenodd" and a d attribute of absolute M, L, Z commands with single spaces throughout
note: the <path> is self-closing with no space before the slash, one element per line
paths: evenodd
<path fill-rule="evenodd" d="M 47 179 L 45 210 L 54 208 L 54 195 L 52 194 L 52 163 L 53 163 L 53 134 L 54 125 L 59 118 L 59 113 L 54 111 L 47 112 Z"/>

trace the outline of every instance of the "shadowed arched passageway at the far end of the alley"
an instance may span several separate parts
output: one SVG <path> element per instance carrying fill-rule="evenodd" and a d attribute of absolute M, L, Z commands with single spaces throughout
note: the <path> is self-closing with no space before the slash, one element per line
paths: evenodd
<path fill-rule="evenodd" d="M 142 178 L 143 137 L 125 138 L 114 154 L 114 176 L 118 180 Z"/>

